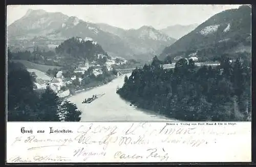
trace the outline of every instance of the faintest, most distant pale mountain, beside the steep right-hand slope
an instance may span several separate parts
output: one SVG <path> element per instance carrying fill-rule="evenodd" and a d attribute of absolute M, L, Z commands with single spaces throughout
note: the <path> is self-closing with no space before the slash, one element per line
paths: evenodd
<path fill-rule="evenodd" d="M 167 34 L 170 37 L 173 37 L 175 39 L 179 39 L 186 35 L 187 33 L 191 32 L 195 28 L 197 28 L 198 24 L 193 25 L 174 25 L 169 26 L 164 29 L 161 29 L 160 31 Z"/>

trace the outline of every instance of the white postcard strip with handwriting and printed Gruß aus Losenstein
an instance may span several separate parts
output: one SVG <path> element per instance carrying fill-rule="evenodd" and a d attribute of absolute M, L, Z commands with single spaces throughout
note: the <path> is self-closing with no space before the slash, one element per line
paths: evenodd
<path fill-rule="evenodd" d="M 251 123 L 7 122 L 6 146 L 7 163 L 250 162 Z"/>

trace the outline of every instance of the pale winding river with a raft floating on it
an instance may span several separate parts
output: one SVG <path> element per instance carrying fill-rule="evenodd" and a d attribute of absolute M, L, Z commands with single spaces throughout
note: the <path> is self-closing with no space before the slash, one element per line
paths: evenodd
<path fill-rule="evenodd" d="M 76 104 L 77 108 L 82 111 L 81 122 L 175 121 L 153 111 L 130 106 L 131 103 L 121 99 L 119 94 L 116 93 L 117 87 L 122 87 L 123 82 L 124 75 L 119 76 L 108 84 L 77 93 L 68 98 L 69 101 Z M 103 93 L 105 93 L 104 96 L 92 103 L 82 104 L 85 98 L 91 98 L 93 94 Z"/>

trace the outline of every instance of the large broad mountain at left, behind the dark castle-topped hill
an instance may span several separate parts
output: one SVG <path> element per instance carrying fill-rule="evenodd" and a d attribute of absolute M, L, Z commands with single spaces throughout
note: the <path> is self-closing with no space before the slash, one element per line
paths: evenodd
<path fill-rule="evenodd" d="M 79 36 L 98 41 L 112 56 L 134 58 L 133 51 L 118 36 L 98 29 L 94 23 L 59 12 L 29 10 L 25 16 L 8 26 L 7 32 L 10 48 L 28 49 L 39 45 L 44 49 L 53 49 L 63 40 Z M 45 42 L 38 38 L 44 38 Z"/>

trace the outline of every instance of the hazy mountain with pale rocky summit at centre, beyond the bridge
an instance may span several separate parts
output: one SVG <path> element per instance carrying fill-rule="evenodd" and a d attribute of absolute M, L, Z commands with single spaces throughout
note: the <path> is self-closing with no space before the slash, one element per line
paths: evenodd
<path fill-rule="evenodd" d="M 151 60 L 155 55 L 161 53 L 165 46 L 176 41 L 176 39 L 156 30 L 151 26 L 142 26 L 139 29 L 124 30 L 104 23 L 99 23 L 98 28 L 102 31 L 117 35 L 123 39 L 126 45 L 144 60 Z"/>

